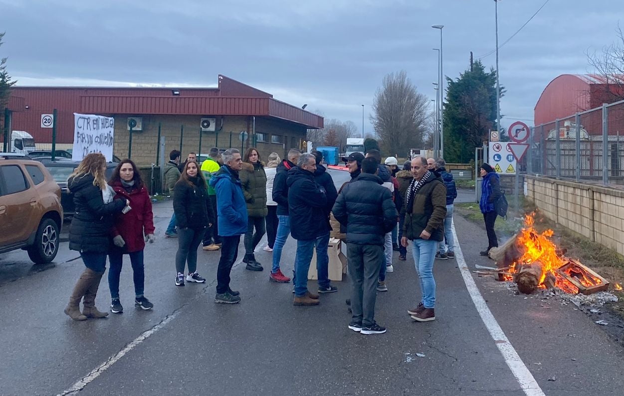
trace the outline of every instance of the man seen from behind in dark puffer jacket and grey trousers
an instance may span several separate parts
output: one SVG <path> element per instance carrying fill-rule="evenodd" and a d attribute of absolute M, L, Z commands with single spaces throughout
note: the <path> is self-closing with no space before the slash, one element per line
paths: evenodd
<path fill-rule="evenodd" d="M 377 171 L 377 160 L 365 158 L 361 175 L 344 187 L 333 208 L 336 220 L 347 227 L 347 259 L 353 279 L 349 329 L 362 334 L 386 332 L 374 320 L 376 288 L 379 269 L 386 265 L 386 234 L 392 232 L 399 216 Z"/>

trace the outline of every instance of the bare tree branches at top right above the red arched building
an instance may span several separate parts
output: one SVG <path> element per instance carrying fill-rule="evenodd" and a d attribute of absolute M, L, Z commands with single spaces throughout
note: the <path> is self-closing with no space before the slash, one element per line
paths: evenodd
<path fill-rule="evenodd" d="M 603 47 L 602 52 L 587 53 L 590 66 L 603 80 L 598 96 L 605 103 L 624 100 L 624 31 L 619 24 L 616 34 L 617 41 Z"/>

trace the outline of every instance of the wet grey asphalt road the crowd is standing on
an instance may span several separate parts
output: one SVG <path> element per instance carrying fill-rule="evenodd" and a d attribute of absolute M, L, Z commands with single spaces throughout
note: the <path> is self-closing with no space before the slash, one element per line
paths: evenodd
<path fill-rule="evenodd" d="M 331 174 L 338 186 L 348 179 L 344 171 Z M 162 238 L 171 203 L 158 203 L 154 213 L 158 240 L 145 249 L 152 311 L 132 304 L 127 258 L 120 286 L 125 312 L 74 322 L 62 310 L 84 264 L 67 243 L 44 268 L 22 251 L 0 255 L 1 395 L 622 394 L 622 350 L 591 319 L 474 273 L 471 296 L 459 257 L 436 262 L 437 319 L 421 324 L 406 312 L 419 296 L 414 262 L 410 254 L 407 261 L 395 254 L 389 291 L 379 294 L 376 309 L 388 332 L 362 336 L 347 328 L 348 279 L 334 283 L 339 291 L 322 295 L 319 306 L 295 307 L 292 284 L 268 281 L 264 241 L 256 258 L 265 271 L 246 271 L 240 263 L 232 270 L 240 304 L 213 302 L 218 252 L 199 253 L 206 284 L 174 286 L 177 240 Z M 487 241 L 483 229 L 459 216 L 455 228 L 465 271 L 491 265 L 478 253 Z M 294 257 L 289 239 L 284 273 L 291 273 Z M 477 308 L 475 293 L 486 304 Z M 100 309 L 109 297 L 104 279 Z M 500 326 L 509 344 L 490 335 L 492 326 Z"/>

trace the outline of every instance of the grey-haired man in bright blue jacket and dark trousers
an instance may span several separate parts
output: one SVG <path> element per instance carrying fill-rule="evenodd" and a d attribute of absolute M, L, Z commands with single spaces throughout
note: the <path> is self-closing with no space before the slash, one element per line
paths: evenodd
<path fill-rule="evenodd" d="M 221 259 L 217 269 L 215 302 L 236 304 L 240 293 L 230 288 L 230 271 L 238 257 L 241 234 L 247 231 L 247 205 L 238 172 L 243 160 L 236 148 L 223 152 L 223 167 L 210 178 L 209 185 L 217 191 L 217 221 L 222 237 Z"/>

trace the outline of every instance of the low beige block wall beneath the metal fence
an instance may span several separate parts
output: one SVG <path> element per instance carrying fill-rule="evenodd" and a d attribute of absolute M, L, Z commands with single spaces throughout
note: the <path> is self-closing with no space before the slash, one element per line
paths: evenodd
<path fill-rule="evenodd" d="M 526 176 L 527 198 L 550 220 L 624 255 L 624 191 Z"/>

